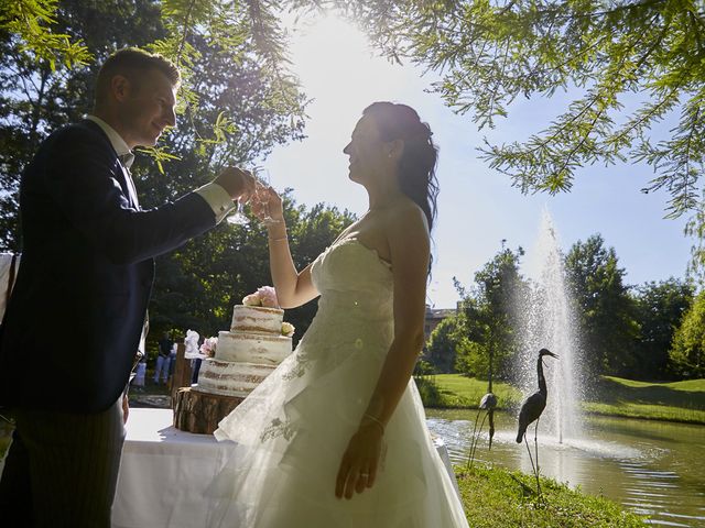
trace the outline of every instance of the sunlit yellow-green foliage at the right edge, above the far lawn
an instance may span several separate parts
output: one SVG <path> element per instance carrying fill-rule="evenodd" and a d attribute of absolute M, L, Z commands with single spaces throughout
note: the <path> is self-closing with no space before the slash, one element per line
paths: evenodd
<path fill-rule="evenodd" d="M 683 316 L 673 337 L 671 367 L 687 380 L 705 377 L 705 292 L 701 292 Z"/>

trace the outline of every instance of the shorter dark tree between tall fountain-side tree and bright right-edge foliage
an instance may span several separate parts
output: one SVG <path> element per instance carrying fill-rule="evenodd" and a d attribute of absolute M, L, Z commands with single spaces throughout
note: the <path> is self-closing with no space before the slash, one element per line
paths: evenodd
<path fill-rule="evenodd" d="M 640 331 L 633 351 L 634 377 L 664 380 L 672 374 L 669 351 L 693 295 L 691 284 L 675 278 L 646 283 L 637 288 L 636 319 Z"/>

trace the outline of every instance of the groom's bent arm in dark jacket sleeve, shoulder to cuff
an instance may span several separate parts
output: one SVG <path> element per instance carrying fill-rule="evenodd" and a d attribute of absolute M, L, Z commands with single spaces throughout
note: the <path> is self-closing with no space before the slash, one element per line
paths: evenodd
<path fill-rule="evenodd" d="M 196 193 L 155 209 L 132 209 L 118 180 L 121 168 L 100 140 L 69 129 L 52 145 L 43 174 L 45 188 L 69 221 L 112 262 L 160 255 L 216 224 L 214 210 Z"/>

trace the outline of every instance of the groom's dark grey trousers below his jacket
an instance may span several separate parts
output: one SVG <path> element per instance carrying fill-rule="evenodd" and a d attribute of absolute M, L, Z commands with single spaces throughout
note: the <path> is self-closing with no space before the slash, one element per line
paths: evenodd
<path fill-rule="evenodd" d="M 14 409 L 0 479 L 8 528 L 110 528 L 124 442 L 121 397 L 96 414 Z"/>

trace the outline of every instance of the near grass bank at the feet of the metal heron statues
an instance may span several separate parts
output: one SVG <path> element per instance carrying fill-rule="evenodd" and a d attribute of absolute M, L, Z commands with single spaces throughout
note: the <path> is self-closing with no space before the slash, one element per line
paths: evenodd
<path fill-rule="evenodd" d="M 643 517 L 604 497 L 583 495 L 541 477 L 542 499 L 533 475 L 502 468 L 456 468 L 468 524 L 473 528 L 637 528 Z"/>

